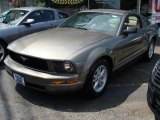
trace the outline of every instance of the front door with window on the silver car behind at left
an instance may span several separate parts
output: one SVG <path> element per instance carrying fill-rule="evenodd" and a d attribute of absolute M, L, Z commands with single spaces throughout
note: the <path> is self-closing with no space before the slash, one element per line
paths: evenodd
<path fill-rule="evenodd" d="M 25 36 L 31 33 L 39 32 L 42 30 L 49 29 L 50 23 L 46 21 L 46 18 L 43 17 L 43 10 L 37 10 L 30 13 L 23 22 L 28 19 L 34 19 L 34 22 L 30 25 L 23 25 L 23 22 L 20 25 L 20 35 Z"/>

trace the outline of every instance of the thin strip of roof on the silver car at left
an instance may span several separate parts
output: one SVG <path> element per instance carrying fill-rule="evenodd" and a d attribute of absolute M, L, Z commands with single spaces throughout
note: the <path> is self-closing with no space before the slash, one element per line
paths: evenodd
<path fill-rule="evenodd" d="M 47 7 L 20 7 L 20 8 L 12 8 L 11 10 L 26 10 L 26 11 L 35 11 L 35 10 L 56 10 L 56 11 L 61 11 L 58 9 L 54 8 L 47 8 Z M 63 11 L 61 11 L 63 12 Z M 65 12 L 64 12 L 65 13 Z"/>

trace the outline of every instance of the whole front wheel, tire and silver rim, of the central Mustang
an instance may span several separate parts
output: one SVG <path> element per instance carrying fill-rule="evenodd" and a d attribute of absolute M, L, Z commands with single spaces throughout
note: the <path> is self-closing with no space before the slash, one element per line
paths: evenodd
<path fill-rule="evenodd" d="M 99 73 L 100 72 L 100 73 Z M 84 86 L 85 95 L 89 98 L 97 98 L 104 93 L 111 68 L 105 59 L 96 62 L 90 69 Z"/>

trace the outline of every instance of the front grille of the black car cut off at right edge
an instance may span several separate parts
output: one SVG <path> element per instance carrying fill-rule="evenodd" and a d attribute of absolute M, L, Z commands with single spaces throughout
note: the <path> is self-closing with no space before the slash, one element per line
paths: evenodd
<path fill-rule="evenodd" d="M 152 81 L 156 87 L 160 88 L 160 60 L 156 63 L 152 71 Z"/>

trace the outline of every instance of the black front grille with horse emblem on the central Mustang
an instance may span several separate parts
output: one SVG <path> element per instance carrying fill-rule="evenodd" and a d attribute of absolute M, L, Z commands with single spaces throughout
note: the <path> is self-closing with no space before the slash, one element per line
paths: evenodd
<path fill-rule="evenodd" d="M 41 71 L 46 71 L 46 72 L 49 71 L 46 60 L 17 54 L 12 51 L 9 51 L 9 56 L 15 62 L 20 63 L 26 67 L 41 70 Z"/>

